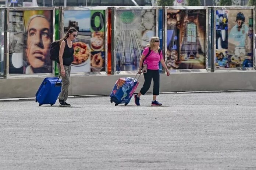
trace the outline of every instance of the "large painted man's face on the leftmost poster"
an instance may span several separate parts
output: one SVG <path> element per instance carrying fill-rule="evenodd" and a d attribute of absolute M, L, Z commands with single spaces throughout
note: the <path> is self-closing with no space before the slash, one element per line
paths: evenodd
<path fill-rule="evenodd" d="M 49 58 L 51 44 L 50 23 L 46 18 L 35 17 L 27 29 L 26 54 L 32 68 L 43 67 Z"/>

